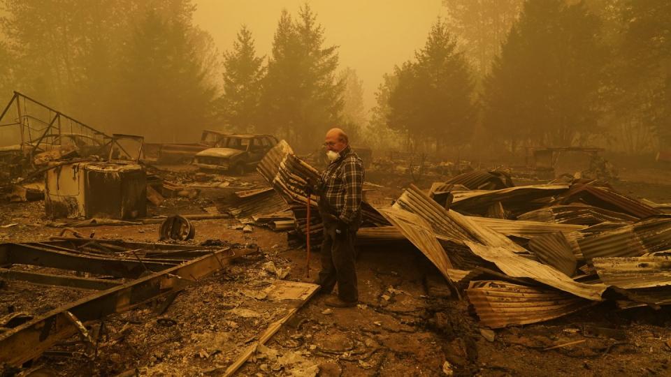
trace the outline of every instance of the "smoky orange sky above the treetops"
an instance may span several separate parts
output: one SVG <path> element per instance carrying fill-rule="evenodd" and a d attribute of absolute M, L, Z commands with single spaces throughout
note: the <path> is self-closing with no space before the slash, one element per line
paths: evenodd
<path fill-rule="evenodd" d="M 209 31 L 220 52 L 230 50 L 246 24 L 257 54 L 270 55 L 282 8 L 296 15 L 305 0 L 197 0 L 194 22 Z M 325 45 L 338 45 L 340 68 L 356 69 L 363 80 L 366 110 L 375 105 L 382 75 L 424 45 L 431 24 L 443 15 L 440 0 L 312 0 Z"/>

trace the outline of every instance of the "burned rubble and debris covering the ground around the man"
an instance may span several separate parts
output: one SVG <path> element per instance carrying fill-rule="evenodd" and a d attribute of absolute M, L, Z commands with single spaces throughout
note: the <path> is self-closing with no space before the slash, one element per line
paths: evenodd
<path fill-rule="evenodd" d="M 16 121 L 0 135 L 17 143 L 0 148 L 0 189 L 14 207 L 0 229 L 25 230 L 0 233 L 3 375 L 384 375 L 389 363 L 410 373 L 403 357 L 427 343 L 440 346 L 413 362 L 477 374 L 496 371 L 475 361 L 490 344 L 589 360 L 671 348 L 671 333 L 640 339 L 613 319 L 671 304 L 671 204 L 614 188 L 601 149 L 537 149 L 491 170 L 357 149 L 370 174 L 410 182 L 394 197 L 391 179 L 366 182 L 357 246 L 407 270 L 379 256 L 359 267 L 373 293 L 338 325 L 341 313 L 312 304 L 317 265 L 303 260 L 306 239 L 313 251 L 322 239 L 305 191 L 322 153 L 208 130 L 152 144 L 19 93 L 6 109 L 0 124 Z M 558 172 L 566 154 L 582 155 L 571 175 Z M 286 248 L 260 246 L 261 233 Z M 593 315 L 604 320 L 581 325 Z"/>

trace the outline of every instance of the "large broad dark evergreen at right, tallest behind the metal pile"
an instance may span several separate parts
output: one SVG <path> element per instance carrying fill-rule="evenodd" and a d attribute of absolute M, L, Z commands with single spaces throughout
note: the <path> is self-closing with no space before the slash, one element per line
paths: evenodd
<path fill-rule="evenodd" d="M 529 0 L 484 85 L 484 126 L 513 146 L 582 144 L 601 133 L 609 59 L 584 3 Z"/>

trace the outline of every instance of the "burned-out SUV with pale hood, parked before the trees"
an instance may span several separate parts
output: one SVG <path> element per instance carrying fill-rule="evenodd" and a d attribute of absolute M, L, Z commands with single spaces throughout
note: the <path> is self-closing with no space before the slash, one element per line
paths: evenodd
<path fill-rule="evenodd" d="M 194 165 L 201 170 L 243 175 L 256 167 L 276 144 L 277 139 L 272 135 L 225 135 L 215 147 L 196 154 Z"/>

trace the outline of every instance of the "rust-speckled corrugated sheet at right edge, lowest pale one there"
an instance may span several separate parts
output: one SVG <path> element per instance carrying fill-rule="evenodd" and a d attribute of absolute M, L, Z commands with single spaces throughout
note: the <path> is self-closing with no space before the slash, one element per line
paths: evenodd
<path fill-rule="evenodd" d="M 619 288 L 671 286 L 671 256 L 594 258 L 597 274 L 604 283 Z"/>

